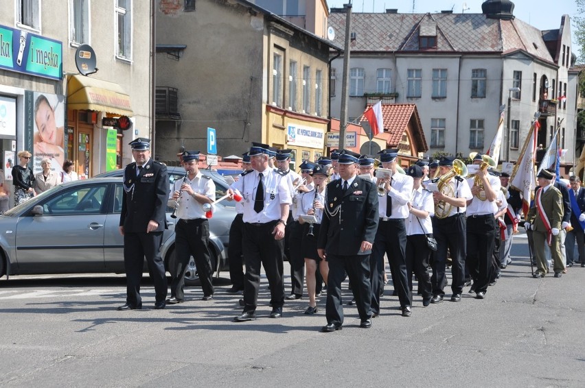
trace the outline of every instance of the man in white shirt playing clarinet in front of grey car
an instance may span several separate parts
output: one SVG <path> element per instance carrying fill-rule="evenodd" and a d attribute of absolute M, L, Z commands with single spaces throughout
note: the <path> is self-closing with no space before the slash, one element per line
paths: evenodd
<path fill-rule="evenodd" d="M 198 168 L 199 151 L 184 151 L 181 155 L 185 178 L 176 180 L 169 198 L 169 206 L 176 207 L 175 260 L 170 263 L 171 298 L 167 304 L 183 302 L 185 293 L 185 269 L 191 256 L 195 258 L 197 274 L 203 289 L 203 300 L 214 298 L 209 253 L 209 221 L 203 205 L 212 205 L 216 200 L 216 184 L 209 175 Z"/>

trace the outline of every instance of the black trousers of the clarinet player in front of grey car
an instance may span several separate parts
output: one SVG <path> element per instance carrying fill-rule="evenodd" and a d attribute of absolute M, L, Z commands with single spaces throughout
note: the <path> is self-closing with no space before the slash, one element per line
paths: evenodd
<path fill-rule="evenodd" d="M 179 219 L 174 233 L 175 263 L 170 270 L 171 296 L 179 300 L 185 298 L 185 269 L 191 256 L 195 259 L 203 295 L 213 295 L 214 286 L 211 278 L 214 275 L 214 269 L 211 268 L 211 254 L 209 254 L 209 221 L 207 219 Z"/>

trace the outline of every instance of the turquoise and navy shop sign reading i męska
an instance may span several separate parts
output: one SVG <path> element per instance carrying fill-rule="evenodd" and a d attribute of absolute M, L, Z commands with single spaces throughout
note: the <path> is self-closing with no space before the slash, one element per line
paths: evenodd
<path fill-rule="evenodd" d="M 62 43 L 0 25 L 0 69 L 61 80 Z"/>

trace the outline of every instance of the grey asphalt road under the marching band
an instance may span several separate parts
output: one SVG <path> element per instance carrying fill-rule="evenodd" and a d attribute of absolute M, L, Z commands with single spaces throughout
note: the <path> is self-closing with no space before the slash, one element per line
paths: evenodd
<path fill-rule="evenodd" d="M 165 310 L 152 309 L 146 282 L 141 311 L 116 311 L 120 276 L 2 279 L 0 385 L 585 387 L 585 268 L 531 278 L 525 242 L 516 238 L 513 263 L 484 300 L 464 293 L 424 308 L 416 297 L 412 317 L 401 317 L 390 285 L 372 328 L 359 328 L 348 306 L 332 333 L 319 332 L 325 296 L 317 315 L 303 315 L 303 298 L 270 319 L 265 286 L 258 319 L 231 322 L 241 308 L 226 279 L 214 300 L 190 288 Z"/>

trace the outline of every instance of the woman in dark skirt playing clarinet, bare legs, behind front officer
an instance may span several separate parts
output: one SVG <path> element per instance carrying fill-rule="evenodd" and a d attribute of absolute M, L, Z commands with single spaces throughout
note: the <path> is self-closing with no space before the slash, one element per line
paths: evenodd
<path fill-rule="evenodd" d="M 315 301 L 315 289 L 317 287 L 315 274 L 317 273 L 317 265 L 319 265 L 319 270 L 321 271 L 321 276 L 323 276 L 325 284 L 327 284 L 327 276 L 329 274 L 328 263 L 325 260 L 321 260 L 319 254 L 317 254 L 317 237 L 319 237 L 319 228 L 321 227 L 321 219 L 323 219 L 323 202 L 325 202 L 325 186 L 328 184 L 328 176 L 323 166 L 315 166 L 312 172 L 314 189 L 308 193 L 304 193 L 301 198 L 301 214 L 314 215 L 317 218 L 317 223 L 313 223 L 311 228 L 310 223 L 304 222 L 299 217 L 299 223 L 303 224 L 301 249 L 307 268 L 305 276 L 307 292 L 309 294 L 309 306 L 305 311 L 307 315 L 317 313 L 317 302 Z"/>

